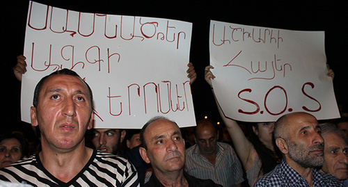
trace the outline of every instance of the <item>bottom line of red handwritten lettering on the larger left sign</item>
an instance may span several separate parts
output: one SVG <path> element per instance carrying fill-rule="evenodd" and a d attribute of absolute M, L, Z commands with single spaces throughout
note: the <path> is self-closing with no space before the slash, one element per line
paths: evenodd
<path fill-rule="evenodd" d="M 143 107 L 143 110 L 141 110 L 143 114 L 151 112 L 160 115 L 193 110 L 188 106 L 188 97 L 191 95 L 189 81 L 182 83 L 182 85 L 173 85 L 171 81 L 149 82 L 144 85 L 132 83 L 127 86 L 127 96 L 117 95 L 110 87 L 108 89 L 109 113 L 112 116 L 134 115 L 134 108 L 139 107 Z M 173 92 L 175 95 L 172 94 Z M 151 111 L 148 108 L 150 105 L 149 97 L 156 98 L 150 99 L 152 102 L 155 101 L 155 106 L 157 106 L 151 108 Z M 139 101 L 141 101 L 141 104 L 139 104 Z"/>

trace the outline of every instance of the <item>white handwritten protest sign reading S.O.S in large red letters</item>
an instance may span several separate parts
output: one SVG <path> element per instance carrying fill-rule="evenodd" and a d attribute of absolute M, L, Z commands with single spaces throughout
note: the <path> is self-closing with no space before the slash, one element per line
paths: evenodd
<path fill-rule="evenodd" d="M 223 113 L 248 122 L 304 111 L 340 117 L 327 76 L 324 32 L 210 22 L 214 93 Z"/>

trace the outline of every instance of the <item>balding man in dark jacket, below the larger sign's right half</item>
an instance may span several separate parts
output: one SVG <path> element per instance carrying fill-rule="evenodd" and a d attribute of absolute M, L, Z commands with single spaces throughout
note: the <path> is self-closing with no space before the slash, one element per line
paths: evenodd
<path fill-rule="evenodd" d="M 143 126 L 140 137 L 141 157 L 153 168 L 145 186 L 220 186 L 184 172 L 185 143 L 175 122 L 166 117 L 154 117 Z"/>

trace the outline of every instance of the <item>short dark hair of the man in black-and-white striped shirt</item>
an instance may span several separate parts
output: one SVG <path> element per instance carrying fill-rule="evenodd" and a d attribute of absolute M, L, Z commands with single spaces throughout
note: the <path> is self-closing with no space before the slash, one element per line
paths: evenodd
<path fill-rule="evenodd" d="M 47 76 L 44 76 L 39 82 L 38 84 L 36 85 L 35 87 L 35 91 L 34 91 L 34 98 L 33 98 L 33 106 L 34 107 L 38 107 L 38 101 L 39 101 L 39 95 L 40 95 L 40 91 L 42 89 L 42 86 L 43 84 L 45 83 L 45 81 L 50 77 L 50 76 L 53 76 L 53 75 L 56 75 L 56 74 L 65 74 L 65 75 L 71 75 L 71 76 L 76 76 L 78 77 L 79 79 L 81 79 L 81 77 L 79 76 L 79 74 L 77 74 L 76 72 L 72 71 L 72 70 L 69 70 L 69 69 L 63 69 L 63 70 L 58 70 L 56 72 L 53 72 L 52 74 L 49 74 Z M 86 86 L 88 87 L 88 91 L 90 93 L 90 104 L 91 106 L 93 105 L 93 94 L 92 94 L 92 89 L 90 89 L 88 83 L 86 83 L 86 81 L 84 81 L 84 79 L 81 79 L 81 81 L 83 81 Z"/>

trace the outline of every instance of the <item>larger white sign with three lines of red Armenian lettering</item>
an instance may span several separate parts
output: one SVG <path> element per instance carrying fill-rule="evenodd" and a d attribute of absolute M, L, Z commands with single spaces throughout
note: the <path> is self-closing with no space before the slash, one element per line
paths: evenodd
<path fill-rule="evenodd" d="M 192 24 L 171 19 L 79 13 L 31 1 L 22 82 L 22 120 L 33 90 L 56 70 L 77 72 L 93 90 L 96 128 L 137 129 L 163 115 L 196 125 L 187 78 Z"/>

